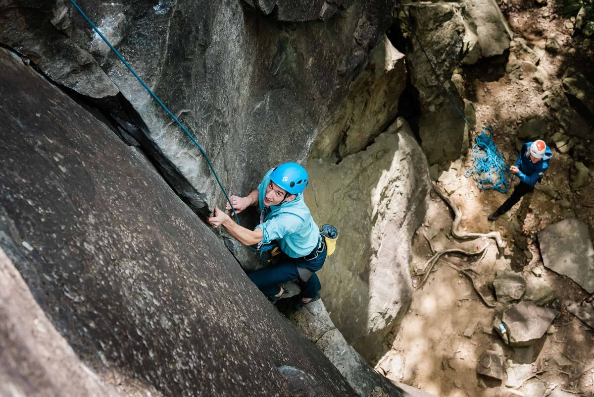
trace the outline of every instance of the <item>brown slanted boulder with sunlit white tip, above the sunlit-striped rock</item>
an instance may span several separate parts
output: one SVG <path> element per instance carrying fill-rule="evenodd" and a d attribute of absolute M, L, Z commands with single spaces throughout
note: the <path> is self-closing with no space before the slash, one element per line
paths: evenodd
<path fill-rule="evenodd" d="M 404 55 L 384 36 L 351 84 L 343 108 L 315 139 L 311 156 L 327 159 L 336 153 L 343 159 L 365 149 L 396 118 L 405 85 Z"/>

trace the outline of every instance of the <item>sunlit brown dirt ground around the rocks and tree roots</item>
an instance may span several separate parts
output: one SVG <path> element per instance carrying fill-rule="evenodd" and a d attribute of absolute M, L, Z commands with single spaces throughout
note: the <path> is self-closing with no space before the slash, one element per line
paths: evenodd
<path fill-rule="evenodd" d="M 505 73 L 505 65 L 485 63 L 460 71 L 465 78 L 466 97 L 476 105 L 476 125 L 493 128 L 495 143 L 510 164 L 517 156 L 517 131 L 527 118 L 540 115 L 546 120 L 545 140 L 561 130 L 559 115 L 545 105 L 542 95 L 546 90 L 560 89 L 561 77 L 568 66 L 586 75 L 592 73 L 594 56 L 592 45 L 587 41 L 584 45 L 584 37 L 574 35 L 572 21 L 560 15 L 558 5 L 549 1 L 539 7 L 532 1 L 508 0 L 501 3 L 501 8 L 516 39 L 545 48 L 546 39 L 554 36 L 561 45 L 557 53 L 546 52 L 539 61 L 539 66 L 548 73 L 542 86 L 527 73 L 523 73 L 523 78 L 510 76 Z M 516 51 L 519 50 L 512 48 L 511 54 Z M 554 157 L 543 183 L 554 188 L 554 197 L 539 187 L 495 222 L 489 222 L 486 217 L 507 195 L 494 190 L 479 191 L 472 179 L 463 176 L 472 165 L 470 150 L 466 157 L 448 165 L 457 170 L 460 179 L 460 187 L 451 194 L 464 215 L 460 228 L 469 232 L 499 231 L 506 244 L 504 255 L 498 255 L 491 241 L 482 259 L 480 255 L 442 257 L 426 283 L 416 289 L 412 307 L 397 330 L 390 351 L 379 358 L 376 369 L 380 373 L 441 397 L 529 395 L 526 383 L 523 387 L 506 387 L 505 376 L 503 382 L 494 382 L 476 373 L 481 354 L 492 344 L 499 344 L 506 360 L 532 363 L 532 379 L 542 380 L 549 387 L 557 385 L 557 389 L 574 395 L 594 396 L 594 369 L 574 377 L 594 364 L 594 332 L 568 314 L 561 304 L 567 300 L 582 301 L 586 292 L 571 279 L 544 267 L 537 237 L 540 229 L 566 218 L 583 220 L 589 225 L 590 237 L 594 236 L 594 184 L 589 182 L 578 190 L 569 186 L 574 160 L 589 167 L 594 165 L 594 151 L 589 149 L 594 129 L 591 121 L 585 125 L 589 130 L 586 136 L 576 138 L 578 144 L 568 153 L 560 153 L 548 142 Z M 451 215 L 446 204 L 432 194 L 428 215 L 413 240 L 413 274 L 422 272 L 432 255 L 427 240 L 431 240 L 433 250 L 460 244 L 451 237 L 450 229 Z M 477 248 L 482 246 L 479 243 L 487 244 L 486 241 L 464 244 L 467 248 Z M 479 290 L 492 301 L 494 295 L 488 282 L 494 279 L 497 270 L 509 267 L 525 278 L 538 273 L 554 288 L 557 299 L 550 306 L 561 314 L 554 320 L 551 333 L 535 346 L 532 360 L 526 359 L 525 350 L 514 350 L 503 343 L 492 330 L 500 309 L 486 307 L 469 279 L 450 264 L 475 270 Z M 415 288 L 421 279 L 422 276 L 413 277 Z M 465 336 L 470 330 L 472 336 Z"/>

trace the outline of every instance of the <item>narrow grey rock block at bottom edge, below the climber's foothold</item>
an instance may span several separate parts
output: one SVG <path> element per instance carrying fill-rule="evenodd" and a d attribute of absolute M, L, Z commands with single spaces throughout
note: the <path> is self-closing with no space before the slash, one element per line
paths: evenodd
<path fill-rule="evenodd" d="M 402 391 L 394 387 L 365 362 L 363 357 L 349 346 L 339 330 L 324 334 L 316 343 L 318 348 L 343 374 L 347 382 L 361 397 L 403 397 Z M 420 391 L 420 390 L 418 390 Z"/>

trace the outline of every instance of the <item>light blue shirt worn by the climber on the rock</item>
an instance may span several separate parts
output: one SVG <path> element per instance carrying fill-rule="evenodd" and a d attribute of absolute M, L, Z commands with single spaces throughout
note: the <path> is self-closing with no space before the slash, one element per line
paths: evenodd
<path fill-rule="evenodd" d="M 264 197 L 266 188 L 270 184 L 270 169 L 264 175 L 262 182 L 258 186 L 258 204 L 260 211 L 264 209 Z M 282 203 L 279 206 L 270 206 L 264 217 L 264 222 L 256 226 L 262 230 L 264 237 L 262 242 L 269 244 L 276 240 L 280 249 L 292 258 L 306 256 L 320 242 L 320 229 L 315 224 L 314 219 L 305 201 L 303 194 L 296 195 L 295 200 L 288 203 Z"/>

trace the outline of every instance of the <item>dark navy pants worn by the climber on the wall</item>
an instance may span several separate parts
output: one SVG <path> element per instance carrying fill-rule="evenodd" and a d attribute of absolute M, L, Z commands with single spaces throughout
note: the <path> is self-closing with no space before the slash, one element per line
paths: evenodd
<path fill-rule="evenodd" d="M 303 257 L 289 258 L 283 256 L 279 261 L 279 264 L 250 272 L 248 273 L 248 277 L 267 297 L 272 297 L 280 292 L 279 284 L 296 279 L 301 288 L 301 297 L 314 298 L 318 291 L 322 289 L 320 279 L 313 273 L 308 281 L 303 281 L 299 278 L 297 268 L 303 267 L 304 269 L 310 270 L 320 269 L 325 260 L 326 247 L 324 247 L 324 250 L 318 254 L 315 259 L 305 260 Z"/>

